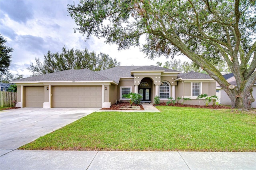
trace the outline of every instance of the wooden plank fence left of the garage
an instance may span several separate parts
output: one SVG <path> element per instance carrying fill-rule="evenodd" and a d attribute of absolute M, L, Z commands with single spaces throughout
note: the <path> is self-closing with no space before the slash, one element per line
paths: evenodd
<path fill-rule="evenodd" d="M 17 101 L 17 93 L 0 91 L 0 107 L 15 107 L 13 101 Z"/>

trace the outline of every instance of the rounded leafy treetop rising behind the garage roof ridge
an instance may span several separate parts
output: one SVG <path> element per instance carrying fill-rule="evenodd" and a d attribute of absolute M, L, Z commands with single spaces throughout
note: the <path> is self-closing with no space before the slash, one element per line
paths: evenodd
<path fill-rule="evenodd" d="M 36 58 L 36 65 L 32 63 L 27 69 L 33 75 L 42 75 L 68 69 L 88 68 L 92 71 L 100 71 L 119 65 L 120 62 L 116 61 L 116 58 L 112 59 L 105 53 L 96 55 L 95 52 L 89 52 L 87 48 L 82 51 L 79 49 L 69 50 L 63 47 L 61 53 L 48 51 L 44 55 L 43 63 L 41 63 L 39 58 Z"/>

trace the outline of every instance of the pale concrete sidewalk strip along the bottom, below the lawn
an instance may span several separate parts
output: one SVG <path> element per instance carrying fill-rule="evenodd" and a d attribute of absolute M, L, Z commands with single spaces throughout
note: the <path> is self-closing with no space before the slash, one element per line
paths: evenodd
<path fill-rule="evenodd" d="M 256 152 L 140 152 L 14 150 L 1 158 L 1 170 L 255 170 Z"/>

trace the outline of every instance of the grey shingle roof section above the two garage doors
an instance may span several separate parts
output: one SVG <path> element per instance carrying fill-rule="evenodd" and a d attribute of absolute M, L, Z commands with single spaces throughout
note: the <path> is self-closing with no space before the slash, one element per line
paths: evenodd
<path fill-rule="evenodd" d="M 49 73 L 49 74 L 19 79 L 12 82 L 18 83 L 23 81 L 107 81 L 107 80 L 110 80 L 110 79 L 102 75 L 99 75 L 89 69 L 79 69 L 79 70 L 70 69 L 65 71 L 58 71 L 55 73 Z"/>

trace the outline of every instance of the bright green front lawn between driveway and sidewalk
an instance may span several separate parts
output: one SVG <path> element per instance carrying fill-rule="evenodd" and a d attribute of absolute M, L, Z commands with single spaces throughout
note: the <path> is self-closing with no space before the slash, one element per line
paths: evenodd
<path fill-rule="evenodd" d="M 256 114 L 157 108 L 161 113 L 92 113 L 20 149 L 256 151 Z"/>

